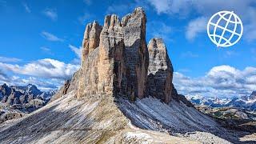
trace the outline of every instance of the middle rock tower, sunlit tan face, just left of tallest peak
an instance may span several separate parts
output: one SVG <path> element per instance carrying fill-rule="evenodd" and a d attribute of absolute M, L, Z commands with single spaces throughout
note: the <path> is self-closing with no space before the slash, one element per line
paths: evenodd
<path fill-rule="evenodd" d="M 117 15 L 106 16 L 99 48 L 98 89 L 106 93 L 118 93 L 126 68 L 122 26 Z"/>

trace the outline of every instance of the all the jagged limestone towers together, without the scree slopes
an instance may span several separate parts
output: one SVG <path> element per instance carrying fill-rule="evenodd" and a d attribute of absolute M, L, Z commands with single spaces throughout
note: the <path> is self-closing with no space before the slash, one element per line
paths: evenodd
<path fill-rule="evenodd" d="M 110 95 L 134 101 L 152 96 L 166 103 L 172 98 L 178 101 L 178 94 L 172 94 L 174 70 L 165 44 L 153 38 L 146 46 L 142 8 L 122 20 L 107 15 L 103 26 L 88 24 L 82 47 L 82 66 L 71 80 L 77 84 L 63 92 L 76 90 L 77 98 Z"/>

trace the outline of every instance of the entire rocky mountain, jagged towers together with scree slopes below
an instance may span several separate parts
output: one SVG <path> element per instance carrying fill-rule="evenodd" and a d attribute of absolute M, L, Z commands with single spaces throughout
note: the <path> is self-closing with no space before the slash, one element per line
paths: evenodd
<path fill-rule="evenodd" d="M 146 14 L 86 26 L 82 64 L 46 106 L 0 129 L 2 143 L 228 143 L 237 138 L 178 94 L 162 39 L 146 45 Z M 171 136 L 173 135 L 173 136 Z"/>

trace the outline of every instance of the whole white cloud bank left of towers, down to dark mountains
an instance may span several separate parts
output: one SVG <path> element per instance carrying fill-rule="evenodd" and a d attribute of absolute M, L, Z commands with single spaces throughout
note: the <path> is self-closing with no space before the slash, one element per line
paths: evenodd
<path fill-rule="evenodd" d="M 40 90 L 56 90 L 64 80 L 78 70 L 80 65 L 45 58 L 25 65 L 0 62 L 0 84 L 26 86 L 33 84 Z M 10 74 L 11 76 L 8 76 Z"/>

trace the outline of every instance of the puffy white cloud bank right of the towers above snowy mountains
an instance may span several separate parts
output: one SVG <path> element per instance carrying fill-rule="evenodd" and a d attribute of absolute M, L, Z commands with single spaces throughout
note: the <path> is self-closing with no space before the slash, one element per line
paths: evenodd
<path fill-rule="evenodd" d="M 232 66 L 214 66 L 205 76 L 190 78 L 174 73 L 174 85 L 187 96 L 234 97 L 248 95 L 256 90 L 256 68 L 238 70 Z"/>

